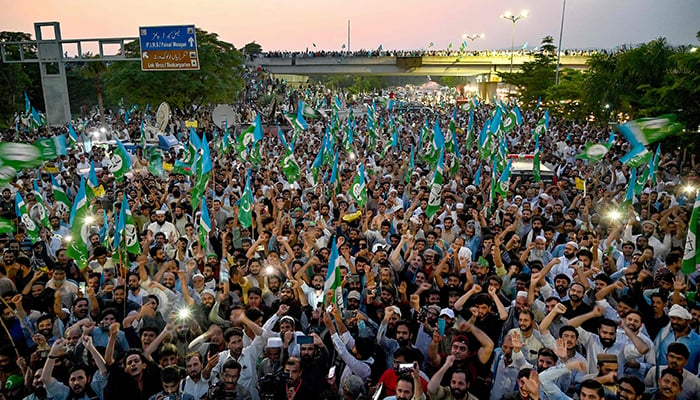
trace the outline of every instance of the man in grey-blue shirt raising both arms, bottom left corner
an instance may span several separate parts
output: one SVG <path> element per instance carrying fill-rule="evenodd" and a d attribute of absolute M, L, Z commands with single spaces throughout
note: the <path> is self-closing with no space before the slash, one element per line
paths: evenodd
<path fill-rule="evenodd" d="M 68 372 L 68 386 L 56 380 L 53 377 L 53 368 L 56 363 L 56 358 L 58 358 L 64 345 L 62 339 L 57 340 L 53 346 L 51 346 L 49 356 L 46 359 L 46 364 L 44 364 L 44 369 L 41 373 L 41 381 L 46 388 L 48 397 L 54 400 L 90 400 L 94 398 L 102 400 L 104 398 L 104 389 L 109 375 L 107 366 L 100 352 L 97 351 L 92 344 L 91 337 L 83 336 L 82 342 L 95 360 L 98 371 L 92 376 L 92 379 L 90 379 L 87 365 L 74 365 Z"/>

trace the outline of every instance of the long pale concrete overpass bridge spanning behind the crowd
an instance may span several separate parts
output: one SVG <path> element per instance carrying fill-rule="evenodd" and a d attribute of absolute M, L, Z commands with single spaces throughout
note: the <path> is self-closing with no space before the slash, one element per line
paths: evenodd
<path fill-rule="evenodd" d="M 587 56 L 561 56 L 561 67 L 586 69 Z M 513 72 L 533 55 L 513 57 Z M 248 64 L 276 75 L 474 76 L 510 71 L 510 55 L 260 57 Z M 491 79 L 489 79 L 491 80 Z"/>

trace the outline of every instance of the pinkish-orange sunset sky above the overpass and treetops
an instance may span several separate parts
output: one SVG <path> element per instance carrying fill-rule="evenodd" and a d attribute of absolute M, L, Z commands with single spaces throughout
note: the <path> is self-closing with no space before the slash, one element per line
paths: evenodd
<path fill-rule="evenodd" d="M 0 0 L 0 30 L 32 32 L 33 23 L 59 21 L 64 39 L 136 37 L 139 26 L 194 23 L 242 47 L 263 50 L 340 50 L 351 20 L 353 50 L 455 47 L 462 34 L 485 33 L 469 48 L 510 48 L 504 11 L 529 11 L 515 27 L 515 46 L 532 48 L 559 37 L 562 0 Z M 569 0 L 563 48 L 614 48 L 664 36 L 698 45 L 698 0 Z"/>

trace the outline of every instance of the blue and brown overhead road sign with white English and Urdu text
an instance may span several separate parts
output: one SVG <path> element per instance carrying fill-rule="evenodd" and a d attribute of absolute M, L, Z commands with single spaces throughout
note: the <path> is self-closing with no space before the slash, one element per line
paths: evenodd
<path fill-rule="evenodd" d="M 142 71 L 199 69 L 194 25 L 142 26 L 139 42 Z"/>

